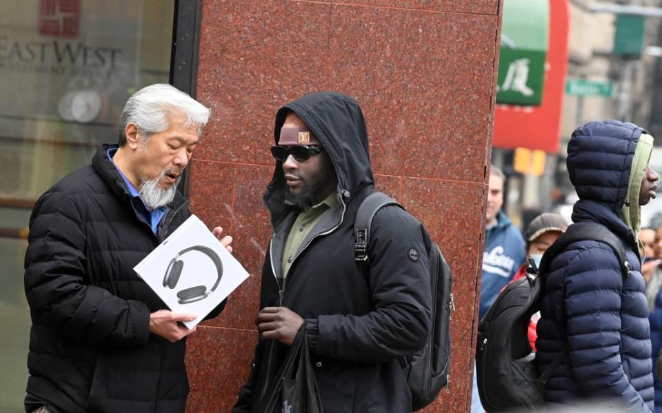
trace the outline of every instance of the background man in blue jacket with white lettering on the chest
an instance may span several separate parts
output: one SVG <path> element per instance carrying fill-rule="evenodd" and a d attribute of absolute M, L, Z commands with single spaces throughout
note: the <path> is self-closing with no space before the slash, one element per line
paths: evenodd
<path fill-rule="evenodd" d="M 504 183 L 503 172 L 494 165 L 490 166 L 488 203 L 485 210 L 485 249 L 483 251 L 479 320 L 488 312 L 490 305 L 496 300 L 496 296 L 512 279 L 526 256 L 521 232 L 501 211 Z M 474 369 L 472 413 L 483 412 L 477 385 L 476 370 Z"/>

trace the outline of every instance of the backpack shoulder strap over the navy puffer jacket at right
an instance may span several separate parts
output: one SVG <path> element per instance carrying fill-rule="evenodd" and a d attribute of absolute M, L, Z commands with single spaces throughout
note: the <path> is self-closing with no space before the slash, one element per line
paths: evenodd
<path fill-rule="evenodd" d="M 556 241 L 554 241 L 550 248 L 545 251 L 545 254 L 543 254 L 543 259 L 540 263 L 539 274 L 546 274 L 550 269 L 552 260 L 557 255 L 561 254 L 561 252 L 563 252 L 565 248 L 568 247 L 568 245 L 576 241 L 587 240 L 600 241 L 608 244 L 612 250 L 614 250 L 616 258 L 619 259 L 619 264 L 621 265 L 621 274 L 623 275 L 623 278 L 625 279 L 625 277 L 628 276 L 628 272 L 632 270 L 632 266 L 625 259 L 625 248 L 623 248 L 621 239 L 614 235 L 613 232 L 608 230 L 605 225 L 595 222 L 579 222 L 570 225 L 568 230 L 565 230 L 565 232 L 561 234 L 561 236 L 559 236 Z"/>

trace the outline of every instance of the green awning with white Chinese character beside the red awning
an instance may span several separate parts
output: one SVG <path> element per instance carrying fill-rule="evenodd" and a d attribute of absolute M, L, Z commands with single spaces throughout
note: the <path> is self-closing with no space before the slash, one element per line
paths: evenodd
<path fill-rule="evenodd" d="M 549 1 L 505 0 L 496 103 L 540 104 L 548 49 Z"/>

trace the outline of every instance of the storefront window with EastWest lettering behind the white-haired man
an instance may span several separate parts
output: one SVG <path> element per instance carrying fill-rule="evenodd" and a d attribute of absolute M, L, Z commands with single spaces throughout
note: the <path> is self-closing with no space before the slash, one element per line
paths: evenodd
<path fill-rule="evenodd" d="M 174 0 L 9 0 L 0 13 L 0 411 L 23 412 L 28 219 L 39 195 L 115 143 L 123 103 L 168 83 Z"/>

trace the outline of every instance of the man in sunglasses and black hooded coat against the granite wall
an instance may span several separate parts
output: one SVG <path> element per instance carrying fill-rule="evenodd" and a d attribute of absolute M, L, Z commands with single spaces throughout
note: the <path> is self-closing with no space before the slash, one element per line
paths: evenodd
<path fill-rule="evenodd" d="M 423 347 L 430 330 L 423 227 L 401 208 L 382 208 L 369 268 L 355 261 L 354 216 L 374 183 L 365 120 L 350 97 L 320 92 L 288 103 L 274 138 L 260 340 L 234 412 L 259 409 L 303 324 L 326 413 L 411 412 L 398 359 Z"/>

